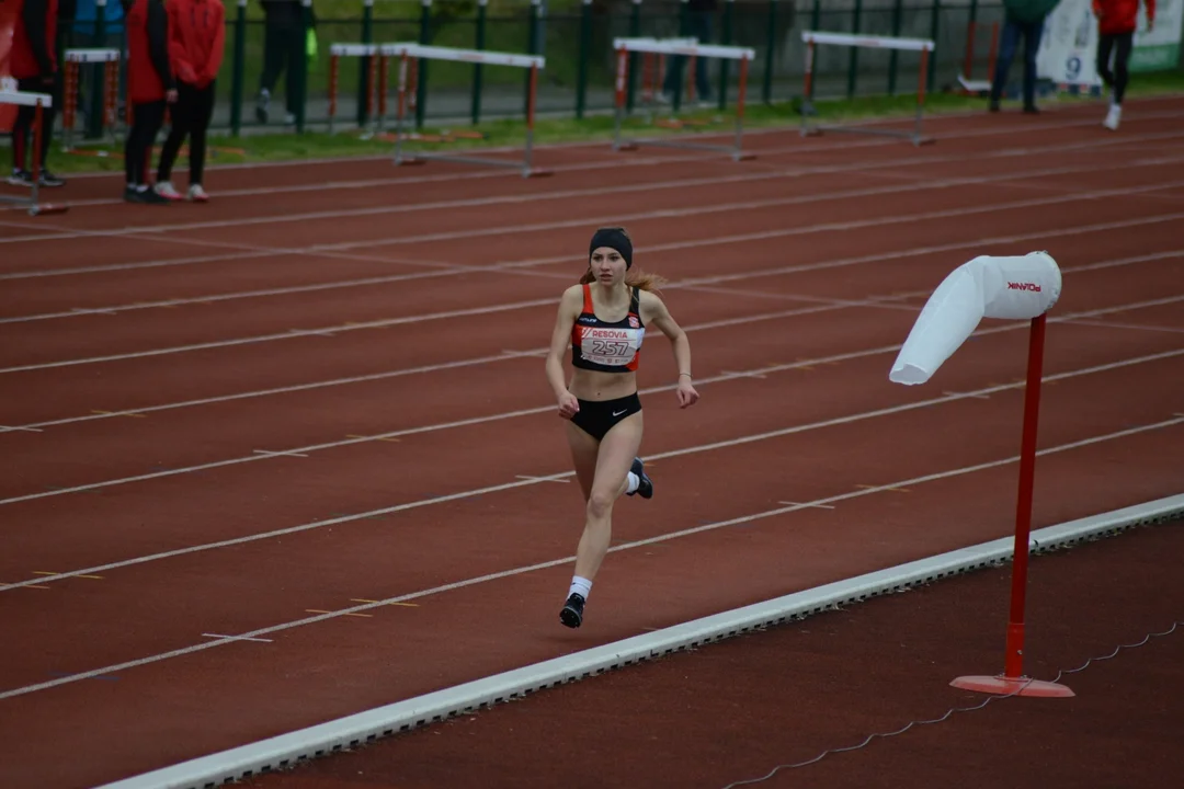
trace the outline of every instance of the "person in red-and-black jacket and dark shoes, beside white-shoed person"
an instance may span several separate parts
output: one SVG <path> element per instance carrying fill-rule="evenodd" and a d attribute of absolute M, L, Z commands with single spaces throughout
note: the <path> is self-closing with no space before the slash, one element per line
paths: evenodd
<path fill-rule="evenodd" d="M 131 128 L 123 145 L 128 202 L 163 203 L 168 198 L 148 188 L 148 169 L 165 109 L 176 102 L 176 82 L 168 64 L 168 12 L 163 0 L 123 0 L 128 37 L 128 105 Z"/>

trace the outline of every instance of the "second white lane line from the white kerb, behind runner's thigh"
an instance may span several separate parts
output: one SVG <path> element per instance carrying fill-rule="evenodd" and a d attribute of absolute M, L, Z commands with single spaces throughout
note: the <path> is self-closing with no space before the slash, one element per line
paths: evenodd
<path fill-rule="evenodd" d="M 888 349 L 888 350 L 892 350 L 892 349 Z M 1107 371 L 1111 371 L 1111 370 L 1122 369 L 1122 368 L 1132 367 L 1132 366 L 1135 366 L 1135 364 L 1143 364 L 1143 363 L 1147 363 L 1147 362 L 1156 362 L 1156 361 L 1162 361 L 1162 360 L 1173 358 L 1173 357 L 1179 357 L 1179 356 L 1184 356 L 1184 348 L 1180 348 L 1180 349 L 1177 349 L 1177 350 L 1172 350 L 1172 351 L 1165 351 L 1165 353 L 1162 353 L 1162 354 L 1153 354 L 1153 355 L 1150 355 L 1150 356 L 1140 356 L 1140 357 L 1134 357 L 1134 358 L 1126 358 L 1126 360 L 1122 360 L 1122 361 L 1119 361 L 1119 362 L 1111 362 L 1108 364 L 1100 364 L 1100 366 L 1096 366 L 1096 367 L 1083 368 L 1083 369 L 1080 369 L 1080 370 L 1069 370 L 1069 371 L 1066 371 L 1066 373 L 1057 373 L 1055 375 L 1045 375 L 1045 376 L 1042 377 L 1042 381 L 1043 382 L 1062 381 L 1062 380 L 1067 380 L 1067 379 L 1073 379 L 1073 377 L 1079 377 L 1079 376 L 1085 376 L 1085 375 L 1094 375 L 1096 373 L 1107 373 Z M 869 419 L 876 419 L 879 416 L 889 416 L 889 415 L 893 415 L 893 414 L 906 413 L 906 412 L 909 412 L 909 410 L 919 410 L 919 409 L 931 408 L 933 406 L 941 406 L 941 405 L 950 403 L 950 402 L 959 402 L 959 401 L 964 401 L 964 400 L 967 400 L 967 399 L 972 399 L 976 395 L 993 394 L 993 393 L 998 393 L 998 392 L 1008 392 L 1008 390 L 1022 389 L 1023 387 L 1024 387 L 1024 381 L 1016 381 L 1016 382 L 1012 382 L 1012 383 L 995 384 L 995 386 L 991 386 L 991 387 L 989 387 L 986 389 L 979 389 L 977 392 L 969 392 L 969 393 L 960 393 L 960 394 L 942 394 L 942 396 L 940 396 L 940 397 L 932 397 L 932 399 L 928 399 L 928 400 L 914 401 L 914 402 L 910 402 L 910 403 L 903 403 L 903 405 L 899 405 L 899 406 L 890 406 L 890 407 L 887 407 L 887 408 L 879 408 L 879 409 L 875 409 L 875 410 L 868 410 L 868 412 L 862 412 L 862 413 L 857 413 L 857 414 L 848 414 L 845 416 L 836 416 L 834 419 L 828 419 L 828 420 L 823 420 L 823 421 L 809 422 L 809 423 L 805 423 L 805 425 L 796 425 L 793 427 L 786 427 L 786 428 L 780 428 L 780 429 L 776 429 L 776 431 L 768 431 L 768 432 L 765 432 L 765 433 L 757 433 L 757 434 L 752 434 L 752 435 L 745 435 L 745 436 L 740 436 L 740 438 L 735 438 L 735 439 L 727 439 L 727 440 L 723 440 L 723 441 L 715 441 L 713 444 L 702 444 L 702 445 L 696 445 L 696 446 L 682 447 L 680 450 L 669 450 L 667 452 L 659 452 L 659 453 L 655 453 L 652 455 L 646 455 L 644 458 L 644 460 L 646 463 L 654 463 L 654 461 L 657 461 L 657 460 L 663 460 L 665 458 L 677 458 L 677 457 L 683 457 L 683 455 L 689 455 L 689 454 L 697 454 L 697 453 L 701 453 L 701 452 L 710 452 L 710 451 L 714 451 L 714 450 L 722 450 L 722 448 L 728 448 L 728 447 L 734 447 L 734 446 L 741 446 L 741 445 L 746 445 L 746 444 L 753 444 L 753 442 L 758 442 L 758 441 L 765 441 L 765 440 L 768 440 L 768 439 L 783 438 L 783 436 L 786 436 L 786 435 L 793 435 L 793 434 L 798 434 L 798 433 L 807 433 L 810 431 L 823 429 L 823 428 L 826 428 L 826 427 L 836 427 L 836 426 L 839 426 L 839 425 L 850 425 L 850 423 L 854 423 L 854 422 L 860 422 L 860 421 L 864 421 L 864 420 L 869 420 Z M 674 387 L 662 387 L 662 388 L 664 388 L 664 389 L 674 389 Z M 547 408 L 539 408 L 539 409 L 534 409 L 534 410 L 535 412 L 543 412 L 543 410 L 552 410 L 553 408 L 554 408 L 554 406 L 548 406 Z M 470 420 L 470 421 L 481 421 L 481 420 Z M 484 420 L 484 421 L 488 421 L 488 420 Z M 408 431 L 408 432 L 411 432 L 411 431 Z M 174 557 L 178 557 L 178 556 L 187 556 L 187 555 L 191 555 L 191 554 L 198 554 L 198 552 L 215 550 L 215 549 L 219 549 L 219 548 L 229 548 L 229 547 L 232 547 L 232 545 L 243 545 L 243 544 L 246 544 L 246 543 L 258 542 L 258 541 L 262 541 L 262 539 L 271 539 L 271 538 L 275 538 L 275 537 L 283 537 L 283 536 L 288 536 L 288 535 L 295 535 L 295 533 L 300 533 L 300 532 L 303 532 L 303 531 L 311 531 L 311 530 L 316 530 L 316 529 L 323 529 L 326 526 L 334 526 L 334 525 L 339 525 L 339 524 L 343 524 L 343 523 L 352 523 L 352 522 L 366 520 L 366 519 L 377 518 L 377 517 L 380 517 L 380 516 L 394 515 L 397 512 L 406 512 L 408 510 L 417 510 L 417 509 L 425 507 L 425 506 L 431 506 L 431 505 L 435 505 L 435 504 L 444 504 L 444 503 L 448 503 L 448 502 L 458 502 L 458 500 L 476 498 L 476 497 L 480 497 L 480 496 L 485 496 L 488 493 L 497 493 L 497 492 L 501 492 L 501 491 L 508 491 L 508 490 L 513 490 L 513 489 L 517 489 L 517 487 L 526 487 L 528 485 L 536 485 L 536 484 L 540 484 L 540 483 L 560 480 L 560 479 L 570 479 L 570 478 L 573 478 L 574 476 L 575 476 L 575 472 L 573 472 L 573 471 L 565 471 L 565 472 L 558 472 L 558 473 L 554 473 L 554 474 L 534 476 L 530 479 L 525 479 L 525 480 L 519 480 L 519 481 L 513 481 L 513 483 L 502 483 L 502 484 L 498 484 L 498 485 L 490 485 L 490 486 L 487 486 L 487 487 L 478 487 L 478 489 L 474 489 L 474 490 L 461 491 L 461 492 L 457 492 L 457 493 L 448 493 L 448 494 L 444 494 L 444 496 L 437 496 L 437 497 L 426 498 L 426 499 L 418 499 L 418 500 L 414 500 L 414 502 L 405 502 L 403 504 L 395 504 L 393 506 L 382 507 L 382 509 L 379 509 L 379 510 L 371 510 L 371 511 L 367 511 L 367 512 L 360 512 L 360 513 L 356 513 L 356 515 L 339 516 L 339 517 L 335 517 L 335 518 L 327 518 L 327 519 L 323 519 L 323 520 L 315 520 L 315 522 L 311 522 L 311 523 L 305 523 L 305 524 L 301 524 L 301 525 L 296 525 L 296 526 L 287 526 L 287 528 L 283 528 L 283 529 L 275 529 L 275 530 L 271 530 L 271 531 L 265 531 L 265 532 L 259 532 L 259 533 L 253 533 L 253 535 L 246 535 L 246 536 L 243 536 L 243 537 L 232 537 L 232 538 L 229 538 L 229 539 L 223 539 L 223 541 L 218 541 L 218 542 L 213 542 L 213 543 L 206 543 L 206 544 L 200 544 L 200 545 L 191 545 L 188 548 L 179 548 L 179 549 L 175 549 L 175 550 L 162 551 L 162 552 L 159 552 L 159 554 L 152 554 L 152 555 L 148 555 L 148 556 L 140 556 L 140 557 L 136 557 L 136 558 L 123 560 L 123 561 L 118 561 L 118 562 L 111 562 L 109 564 L 102 564 L 102 565 L 97 565 L 97 567 L 85 568 L 85 569 L 82 569 L 82 570 L 71 570 L 69 573 L 59 573 L 58 575 L 54 575 L 54 576 L 51 576 L 51 577 L 46 577 L 46 578 L 33 578 L 33 580 L 30 580 L 30 581 L 20 581 L 20 582 L 17 582 L 17 583 L 8 584 L 8 587 L 6 587 L 6 588 L 0 588 L 0 591 L 7 591 L 9 589 L 19 589 L 21 587 L 32 586 L 34 583 L 49 583 L 49 582 L 52 582 L 52 581 L 59 581 L 59 580 L 63 580 L 63 578 L 70 578 L 70 577 L 73 577 L 73 576 L 77 576 L 77 575 L 83 575 L 83 574 L 99 574 L 99 573 L 105 573 L 105 571 L 110 571 L 110 570 L 115 570 L 115 569 L 121 569 L 121 568 L 126 568 L 126 567 L 134 567 L 134 565 L 137 565 L 137 564 L 144 564 L 144 563 L 148 563 L 148 562 L 155 562 L 155 561 L 166 560 L 166 558 L 174 558 Z"/>

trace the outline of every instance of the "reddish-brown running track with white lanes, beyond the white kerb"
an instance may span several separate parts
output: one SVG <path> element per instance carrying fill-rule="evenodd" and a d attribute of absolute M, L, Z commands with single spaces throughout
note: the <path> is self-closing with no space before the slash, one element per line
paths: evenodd
<path fill-rule="evenodd" d="M 934 119 L 924 149 L 761 134 L 744 164 L 545 149 L 546 181 L 224 169 L 211 205 L 157 211 L 83 179 L 65 216 L 0 215 L 11 781 L 94 785 L 1006 536 L 1025 326 L 887 380 L 984 252 L 1048 250 L 1066 277 L 1035 526 L 1180 492 L 1184 156 L 1162 145 L 1184 102 L 1132 108 L 1119 135 L 1087 108 Z M 671 280 L 703 400 L 675 407 L 652 338 L 657 496 L 618 505 L 570 632 L 581 506 L 540 353 L 618 220 Z"/>

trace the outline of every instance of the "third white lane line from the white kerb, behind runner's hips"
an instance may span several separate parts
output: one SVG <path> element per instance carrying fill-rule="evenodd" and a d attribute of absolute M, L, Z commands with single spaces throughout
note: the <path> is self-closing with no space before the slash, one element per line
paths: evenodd
<path fill-rule="evenodd" d="M 1184 295 L 1182 295 L 1182 296 L 1172 296 L 1172 297 L 1166 297 L 1166 298 L 1160 298 L 1160 299 L 1152 299 L 1150 302 L 1139 302 L 1139 303 L 1134 303 L 1134 304 L 1121 304 L 1121 305 L 1118 305 L 1118 306 L 1103 308 L 1103 309 L 1100 309 L 1100 310 L 1090 310 L 1088 312 L 1067 313 L 1067 315 L 1063 315 L 1063 316 L 1050 317 L 1048 319 L 1048 322 L 1049 323 L 1063 323 L 1063 322 L 1066 322 L 1066 321 L 1068 321 L 1068 319 L 1070 319 L 1073 317 L 1106 315 L 1106 313 L 1115 312 L 1115 311 L 1127 311 L 1127 310 L 1140 309 L 1140 308 L 1145 308 L 1145 306 L 1160 306 L 1160 305 L 1164 305 L 1164 304 L 1173 304 L 1173 303 L 1179 303 L 1179 302 L 1184 302 Z M 803 310 L 803 311 L 823 311 L 823 310 L 830 310 L 830 309 L 835 309 L 835 308 L 830 308 L 830 306 L 805 308 L 805 310 Z M 729 318 L 729 319 L 718 321 L 718 322 L 715 322 L 714 325 L 719 326 L 719 325 L 729 324 L 729 323 L 751 322 L 751 321 L 753 321 L 753 316 L 745 317 L 745 318 Z M 998 326 L 992 326 L 990 329 L 980 329 L 980 330 L 973 332 L 972 336 L 984 336 L 984 335 L 991 335 L 991 334 L 1000 334 L 1000 332 L 1004 332 L 1004 331 L 1015 331 L 1015 330 L 1022 329 L 1024 326 L 1025 326 L 1025 324 L 1023 324 L 1023 323 L 1008 323 L 1008 324 L 1003 324 L 1003 325 L 998 325 Z M 899 349 L 900 345 L 894 345 L 893 348 Z M 824 360 L 813 360 L 813 361 L 806 360 L 806 361 L 793 362 L 793 363 L 790 363 L 790 364 L 771 364 L 771 366 L 765 366 L 765 367 L 757 368 L 755 370 L 746 370 L 746 371 L 742 371 L 742 373 L 723 374 L 723 375 L 720 375 L 720 376 L 715 376 L 714 379 L 701 379 L 696 383 L 697 384 L 706 384 L 706 383 L 710 383 L 710 382 L 715 382 L 715 381 L 728 381 L 728 380 L 745 379 L 745 377 L 752 377 L 754 374 L 767 375 L 770 373 L 779 373 L 779 371 L 784 371 L 784 370 L 804 368 L 804 367 L 809 367 L 811 364 L 823 364 L 823 363 L 826 363 L 826 362 L 838 362 L 838 361 L 843 361 L 843 360 L 847 360 L 847 358 L 855 358 L 855 357 L 860 357 L 860 356 L 870 356 L 870 355 L 874 355 L 876 353 L 883 353 L 883 349 L 875 349 L 875 350 L 871 350 L 871 351 L 855 351 L 854 354 L 839 354 L 839 355 L 831 356 L 831 357 L 828 357 L 828 358 L 824 358 Z M 1139 357 L 1139 362 L 1143 362 L 1143 361 L 1154 361 L 1154 360 L 1159 360 L 1159 358 L 1169 358 L 1171 356 L 1176 356 L 1176 355 L 1179 355 L 1179 354 L 1184 354 L 1184 350 L 1167 351 L 1165 354 L 1154 354 L 1154 355 L 1151 355 L 1151 356 L 1143 356 L 1143 357 Z M 1121 367 L 1121 364 L 1120 364 L 1120 367 Z M 1102 370 L 1102 369 L 1111 369 L 1111 367 L 1109 366 L 1102 366 L 1100 368 L 1090 368 L 1090 371 L 1099 371 L 1099 370 Z M 1055 381 L 1055 380 L 1057 380 L 1057 376 L 1049 376 L 1045 380 L 1047 381 Z M 649 389 L 641 390 L 639 394 L 650 394 L 650 393 L 654 393 L 654 392 L 662 392 L 662 390 L 667 390 L 667 389 L 671 389 L 671 388 L 674 388 L 674 387 L 671 387 L 669 384 L 668 386 L 663 386 L 663 387 L 650 387 Z M 996 390 L 997 389 L 985 389 L 985 390 L 983 390 L 979 394 L 990 394 L 990 393 L 996 392 Z M 972 395 L 971 394 L 963 394 L 963 395 L 959 395 L 959 396 L 960 397 L 969 397 L 969 396 L 972 396 Z M 934 402 L 937 402 L 937 401 L 934 401 Z M 182 466 L 180 468 L 169 468 L 169 470 L 166 470 L 166 471 L 156 471 L 156 472 L 152 472 L 152 473 L 148 473 L 148 474 L 137 474 L 135 477 L 123 477 L 123 478 L 118 478 L 118 479 L 108 479 L 108 480 L 104 480 L 104 481 L 101 481 L 101 483 L 90 483 L 90 484 L 86 484 L 86 485 L 76 485 L 73 487 L 59 487 L 59 489 L 54 489 L 54 490 L 43 491 L 40 493 L 26 493 L 25 496 L 17 496 L 17 497 L 7 498 L 7 499 L 0 499 L 0 505 L 17 504 L 17 503 L 20 503 L 20 502 L 31 502 L 31 500 L 34 500 L 34 499 L 49 498 L 49 497 L 52 497 L 52 496 L 65 496 L 67 493 L 79 493 L 79 492 L 83 492 L 83 491 L 92 491 L 92 490 L 98 490 L 98 489 L 104 489 L 104 487 L 111 487 L 111 486 L 115 486 L 115 485 L 127 485 L 127 484 L 130 484 L 130 483 L 140 483 L 140 481 L 147 481 L 147 480 L 152 480 L 152 479 L 160 479 L 162 477 L 175 477 L 178 474 L 195 473 L 195 472 L 200 472 L 200 471 L 208 471 L 211 468 L 221 468 L 221 467 L 226 467 L 226 466 L 236 466 L 236 465 L 240 465 L 240 464 L 245 464 L 245 463 L 253 463 L 253 461 L 257 461 L 257 460 L 265 460 L 269 457 L 278 455 L 278 454 L 310 453 L 310 452 L 317 452 L 317 451 L 322 451 L 322 450 L 334 450 L 334 448 L 339 448 L 339 447 L 343 447 L 343 446 L 350 446 L 350 445 L 356 445 L 356 444 L 366 444 L 366 442 L 377 441 L 377 440 L 381 440 L 381 439 L 401 438 L 401 436 L 405 436 L 405 435 L 414 435 L 414 434 L 419 434 L 419 433 L 436 432 L 436 431 L 440 431 L 440 429 L 444 429 L 444 428 L 462 427 L 462 426 L 469 426 L 469 425 L 476 425 L 476 423 L 487 423 L 487 422 L 491 422 L 491 421 L 495 421 L 495 420 L 509 419 L 511 416 L 522 416 L 522 415 L 527 415 L 527 414 L 546 413 L 547 410 L 551 410 L 552 408 L 554 408 L 554 406 L 543 406 L 543 407 L 539 407 L 539 408 L 528 408 L 528 409 L 521 409 L 521 410 L 515 410 L 515 412 L 504 412 L 502 414 L 493 414 L 493 415 L 485 415 L 485 416 L 478 416 L 478 418 L 457 420 L 457 421 L 446 422 L 446 423 L 443 423 L 443 425 L 427 425 L 427 426 L 422 426 L 422 427 L 405 428 L 405 429 L 401 429 L 401 431 L 393 431 L 393 432 L 390 432 L 390 433 L 381 433 L 381 434 L 377 434 L 377 435 L 368 435 L 368 436 L 363 436 L 363 438 L 359 438 L 359 439 L 346 439 L 343 441 L 342 440 L 339 440 L 339 441 L 327 441 L 327 442 L 323 442 L 323 444 L 314 444 L 314 445 L 303 446 L 303 447 L 294 447 L 291 450 L 284 450 L 284 451 L 281 451 L 281 452 L 272 452 L 272 453 L 268 453 L 268 454 L 251 454 L 251 455 L 245 455 L 245 457 L 239 457 L 239 458 L 230 458 L 227 460 L 213 460 L 213 461 L 199 464 L 199 465 L 195 465 L 195 466 Z M 256 451 L 256 452 L 258 452 L 258 451 Z M 303 457 L 303 455 L 301 455 L 301 457 Z"/>

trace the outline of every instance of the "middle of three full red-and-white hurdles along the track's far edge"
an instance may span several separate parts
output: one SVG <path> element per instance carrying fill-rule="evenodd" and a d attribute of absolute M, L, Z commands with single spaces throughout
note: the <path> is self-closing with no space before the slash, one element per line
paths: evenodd
<path fill-rule="evenodd" d="M 696 40 L 696 39 L 690 39 Z M 637 150 L 639 143 L 650 145 L 664 145 L 669 148 L 691 148 L 697 150 L 713 150 L 728 154 L 733 161 L 747 161 L 755 159 L 755 154 L 744 150 L 744 103 L 748 86 L 748 66 L 755 59 L 757 51 L 744 46 L 722 46 L 712 44 L 687 44 L 687 39 L 654 39 L 654 38 L 614 38 L 612 48 L 617 52 L 617 97 L 616 119 L 613 122 L 612 149 L 613 150 Z M 689 65 L 687 69 L 688 79 L 693 78 L 696 58 L 725 58 L 740 62 L 740 92 L 736 97 L 736 122 L 735 136 L 731 145 L 713 145 L 703 142 L 689 142 L 686 140 L 673 140 L 661 137 L 648 138 L 622 138 L 622 123 L 625 116 L 625 86 L 629 82 L 629 54 L 641 52 L 656 54 L 663 58 L 669 56 L 686 56 Z"/>

